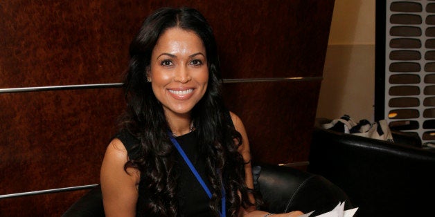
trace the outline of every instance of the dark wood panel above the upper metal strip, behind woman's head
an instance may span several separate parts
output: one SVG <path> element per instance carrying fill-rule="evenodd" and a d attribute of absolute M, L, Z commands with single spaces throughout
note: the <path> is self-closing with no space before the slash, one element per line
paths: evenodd
<path fill-rule="evenodd" d="M 142 19 L 181 5 L 213 26 L 224 78 L 322 74 L 333 1 L 6 1 L 0 87 L 120 82 Z"/>

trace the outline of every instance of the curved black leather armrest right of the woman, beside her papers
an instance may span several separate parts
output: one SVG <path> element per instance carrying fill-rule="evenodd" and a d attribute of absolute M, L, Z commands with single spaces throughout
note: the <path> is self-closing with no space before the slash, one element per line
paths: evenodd
<path fill-rule="evenodd" d="M 308 173 L 292 167 L 260 164 L 255 174 L 257 190 L 263 197 L 264 211 L 283 213 L 300 210 L 304 213 L 314 211 L 312 215 L 332 210 L 339 202 L 345 202 L 345 209 L 352 208 L 346 193 L 332 182 L 314 173 Z"/>

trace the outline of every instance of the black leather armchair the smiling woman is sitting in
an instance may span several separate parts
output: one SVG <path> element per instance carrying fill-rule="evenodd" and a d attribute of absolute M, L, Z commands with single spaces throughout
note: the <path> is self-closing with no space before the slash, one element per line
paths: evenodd
<path fill-rule="evenodd" d="M 339 202 L 345 202 L 346 209 L 352 208 L 346 193 L 322 176 L 270 164 L 253 167 L 253 173 L 255 188 L 265 202 L 262 210 L 272 213 L 316 210 L 313 214 L 316 215 L 330 211 Z M 82 196 L 63 216 L 105 216 L 100 186 Z"/>

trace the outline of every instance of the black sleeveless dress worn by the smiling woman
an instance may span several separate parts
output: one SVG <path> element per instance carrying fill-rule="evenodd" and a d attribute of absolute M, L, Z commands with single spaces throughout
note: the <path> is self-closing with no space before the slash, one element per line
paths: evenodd
<path fill-rule="evenodd" d="M 130 159 L 138 158 L 139 147 L 136 146 L 136 144 L 139 143 L 139 140 L 136 140 L 136 138 L 127 131 L 121 131 L 121 133 L 116 135 L 116 138 L 123 142 Z M 176 137 L 175 139 L 179 142 L 208 188 L 211 189 L 211 184 L 206 176 L 206 161 L 204 156 L 199 153 L 197 138 L 197 131 L 192 131 Z M 179 196 L 179 213 L 181 216 L 213 216 L 211 209 L 208 207 L 210 199 L 206 192 L 175 148 L 174 152 L 176 161 L 175 170 L 179 177 L 177 191 Z M 141 179 L 143 179 L 142 177 L 143 176 L 141 176 Z M 143 185 L 144 182 L 141 180 L 141 182 L 139 182 L 139 198 L 136 205 L 136 216 L 149 216 L 143 213 L 142 206 L 146 206 L 149 201 L 146 189 Z"/>

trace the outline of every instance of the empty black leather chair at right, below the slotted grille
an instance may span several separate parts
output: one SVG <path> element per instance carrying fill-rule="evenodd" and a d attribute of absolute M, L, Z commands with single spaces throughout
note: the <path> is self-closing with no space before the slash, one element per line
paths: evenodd
<path fill-rule="evenodd" d="M 355 216 L 434 214 L 435 151 L 413 133 L 392 131 L 395 142 L 323 129 L 318 119 L 308 171 L 346 191 Z"/>

